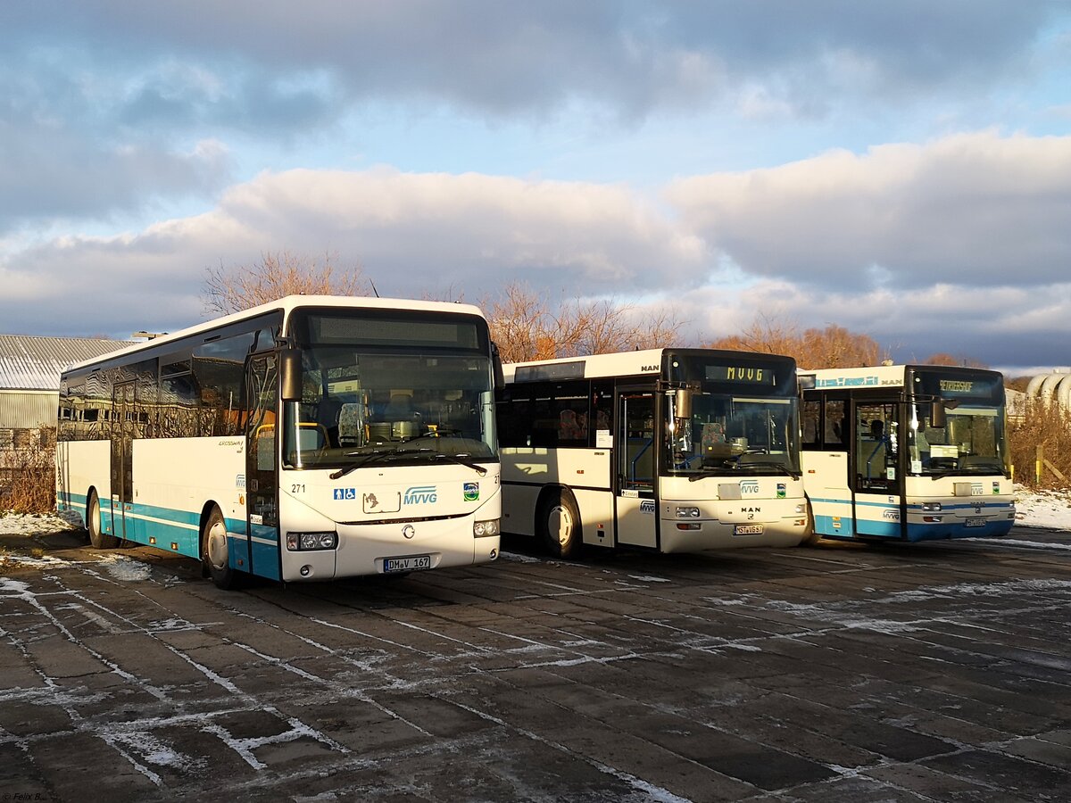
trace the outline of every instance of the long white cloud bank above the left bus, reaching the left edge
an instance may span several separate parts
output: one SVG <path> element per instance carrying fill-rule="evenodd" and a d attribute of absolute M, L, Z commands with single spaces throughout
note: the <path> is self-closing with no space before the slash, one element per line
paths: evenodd
<path fill-rule="evenodd" d="M 573 296 L 703 281 L 703 242 L 623 185 L 467 173 L 292 170 L 231 187 L 201 215 L 110 238 L 64 237 L 7 251 L 0 301 L 11 331 L 172 331 L 200 317 L 206 270 L 265 252 L 331 252 L 361 263 L 383 296 L 451 288 L 477 300 L 508 282 Z M 37 281 L 34 277 L 47 277 Z M 151 318 L 150 320 L 147 320 Z"/>

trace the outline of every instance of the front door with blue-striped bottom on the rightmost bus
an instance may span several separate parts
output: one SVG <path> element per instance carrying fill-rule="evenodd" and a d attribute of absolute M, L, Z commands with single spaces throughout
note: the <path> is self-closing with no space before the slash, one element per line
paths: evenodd
<path fill-rule="evenodd" d="M 849 471 L 854 471 L 856 534 L 899 539 L 904 533 L 904 478 L 900 465 L 897 400 L 855 404 Z"/>

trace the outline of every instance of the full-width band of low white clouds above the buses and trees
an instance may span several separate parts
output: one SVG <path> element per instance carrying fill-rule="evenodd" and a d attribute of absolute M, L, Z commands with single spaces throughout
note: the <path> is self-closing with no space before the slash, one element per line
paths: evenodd
<path fill-rule="evenodd" d="M 0 318 L 12 332 L 174 331 L 200 319 L 207 268 L 289 249 L 359 262 L 384 296 L 479 301 L 521 279 L 549 298 L 669 304 L 690 321 L 683 344 L 763 315 L 869 334 L 899 359 L 1066 364 L 1069 165 L 1066 138 L 960 135 L 680 180 L 676 217 L 623 184 L 265 172 L 140 231 L 7 240 Z"/>

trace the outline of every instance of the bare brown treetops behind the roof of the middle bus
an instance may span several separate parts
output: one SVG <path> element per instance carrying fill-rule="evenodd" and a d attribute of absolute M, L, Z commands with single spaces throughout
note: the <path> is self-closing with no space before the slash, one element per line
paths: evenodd
<path fill-rule="evenodd" d="M 511 363 L 669 346 L 682 325 L 669 310 L 638 314 L 610 300 L 564 300 L 552 308 L 547 297 L 517 282 L 481 306 L 502 360 Z"/>

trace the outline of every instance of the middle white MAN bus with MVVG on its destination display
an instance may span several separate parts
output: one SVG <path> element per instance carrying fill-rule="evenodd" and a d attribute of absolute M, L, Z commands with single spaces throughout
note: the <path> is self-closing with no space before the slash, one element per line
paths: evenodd
<path fill-rule="evenodd" d="M 796 364 L 651 349 L 503 366 L 503 519 L 557 556 L 795 546 Z"/>

